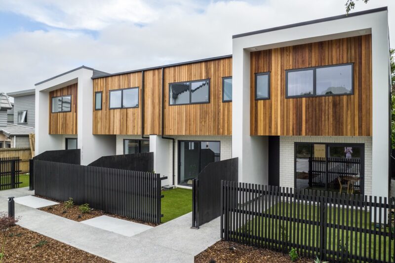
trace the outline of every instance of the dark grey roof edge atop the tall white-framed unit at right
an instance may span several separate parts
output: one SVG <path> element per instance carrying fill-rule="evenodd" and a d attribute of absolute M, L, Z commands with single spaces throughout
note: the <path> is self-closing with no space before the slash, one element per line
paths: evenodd
<path fill-rule="evenodd" d="M 310 21 L 301 22 L 301 23 L 295 23 L 295 24 L 290 24 L 290 25 L 285 25 L 285 26 L 280 26 L 280 27 L 274 27 L 274 28 L 268 28 L 268 29 L 263 29 L 263 30 L 258 30 L 258 31 L 252 31 L 252 32 L 248 32 L 248 33 L 234 35 L 232 38 L 242 38 L 242 37 L 246 37 L 246 36 L 262 34 L 262 33 L 267 33 L 267 32 L 276 31 L 276 30 L 282 30 L 282 29 L 287 29 L 287 28 L 306 26 L 306 25 L 311 25 L 311 24 L 316 24 L 316 23 L 321 23 L 321 22 L 327 22 L 327 21 L 343 19 L 343 18 L 358 16 L 358 15 L 365 15 L 365 14 L 370 14 L 370 13 L 387 11 L 387 10 L 388 10 L 387 6 L 379 7 L 379 8 L 364 10 L 364 11 L 355 12 L 355 13 L 330 16 L 330 17 L 326 17 L 326 18 L 320 18 L 320 19 L 310 20 Z"/>

